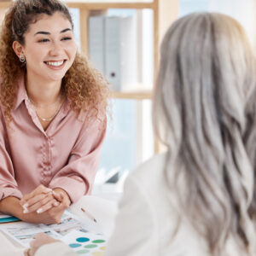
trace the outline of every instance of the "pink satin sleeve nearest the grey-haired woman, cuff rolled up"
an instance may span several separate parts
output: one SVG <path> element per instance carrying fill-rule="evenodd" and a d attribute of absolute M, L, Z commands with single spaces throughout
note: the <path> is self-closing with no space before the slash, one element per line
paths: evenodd
<path fill-rule="evenodd" d="M 64 189 L 72 203 L 79 201 L 83 195 L 90 194 L 102 152 L 106 125 L 106 118 L 96 119 L 90 125 L 84 121 L 67 166 L 57 172 L 49 183 L 51 189 Z"/>

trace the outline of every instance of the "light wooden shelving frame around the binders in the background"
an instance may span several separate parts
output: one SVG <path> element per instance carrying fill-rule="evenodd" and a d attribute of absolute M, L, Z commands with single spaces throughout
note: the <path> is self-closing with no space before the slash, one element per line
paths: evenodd
<path fill-rule="evenodd" d="M 70 8 L 78 8 L 80 10 L 80 45 L 81 51 L 88 54 L 88 18 L 92 10 L 107 9 L 151 9 L 154 16 L 154 78 L 158 70 L 159 45 L 166 28 L 173 20 L 177 19 L 178 0 L 95 0 L 87 1 L 65 1 Z M 143 86 L 134 86 L 137 90 L 133 91 L 113 91 L 114 98 L 143 100 L 150 99 L 152 96 L 153 84 L 151 90 L 141 90 Z"/>

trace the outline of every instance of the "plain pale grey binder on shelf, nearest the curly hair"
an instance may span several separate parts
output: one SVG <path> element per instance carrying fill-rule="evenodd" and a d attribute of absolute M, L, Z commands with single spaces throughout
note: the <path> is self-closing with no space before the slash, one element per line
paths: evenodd
<path fill-rule="evenodd" d="M 90 61 L 103 75 L 105 74 L 105 16 L 89 18 Z"/>

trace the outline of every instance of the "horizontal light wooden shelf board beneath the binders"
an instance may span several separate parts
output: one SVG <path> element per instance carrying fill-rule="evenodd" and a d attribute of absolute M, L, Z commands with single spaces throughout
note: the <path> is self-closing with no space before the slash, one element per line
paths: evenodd
<path fill-rule="evenodd" d="M 152 98 L 152 91 L 112 91 L 111 97 L 116 99 L 126 99 L 126 100 L 150 100 Z"/>

